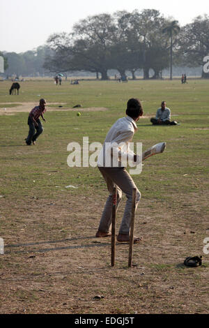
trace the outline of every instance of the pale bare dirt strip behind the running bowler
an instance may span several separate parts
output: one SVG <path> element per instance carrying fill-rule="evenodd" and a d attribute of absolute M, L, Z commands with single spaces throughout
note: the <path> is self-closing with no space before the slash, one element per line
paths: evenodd
<path fill-rule="evenodd" d="M 31 109 L 38 105 L 38 103 L 15 103 L 15 107 L 6 107 L 6 105 L 12 105 L 13 103 L 0 103 L 0 115 L 2 114 L 15 114 L 19 112 L 30 112 Z M 57 107 L 50 107 L 57 105 Z M 47 112 L 52 111 L 73 111 L 73 112 L 104 112 L 105 110 L 108 110 L 106 107 L 89 107 L 89 108 L 82 108 L 82 107 L 76 107 L 76 108 L 69 108 L 64 107 L 66 103 L 47 103 Z M 62 106 L 62 107 L 59 107 Z"/>

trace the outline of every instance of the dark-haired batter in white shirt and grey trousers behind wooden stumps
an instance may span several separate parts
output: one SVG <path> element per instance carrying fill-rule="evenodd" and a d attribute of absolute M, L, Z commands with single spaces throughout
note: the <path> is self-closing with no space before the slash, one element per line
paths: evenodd
<path fill-rule="evenodd" d="M 116 121 L 116 123 L 110 128 L 106 139 L 104 140 L 100 155 L 98 156 L 98 169 L 106 181 L 109 197 L 107 197 L 107 202 L 104 206 L 96 237 L 107 237 L 111 235 L 109 228 L 111 225 L 112 194 L 114 185 L 116 185 L 117 207 L 121 201 L 122 192 L 125 193 L 127 197 L 125 211 L 117 237 L 117 240 L 121 242 L 130 240 L 129 234 L 132 211 L 132 189 L 137 188 L 132 180 L 132 177 L 130 177 L 130 174 L 127 170 L 125 170 L 125 167 L 123 167 L 121 158 L 122 156 L 123 158 L 124 156 L 127 156 L 131 158 L 136 165 L 140 162 L 139 156 L 130 151 L 128 147 L 129 143 L 132 141 L 134 133 L 137 131 L 136 123 L 139 120 L 139 117 L 143 114 L 143 108 L 139 99 L 131 98 L 128 100 L 127 110 L 125 113 L 127 114 L 127 117 L 118 119 L 118 121 Z M 123 147 L 120 146 L 121 143 L 126 146 L 125 150 L 123 150 Z M 111 149 L 110 153 L 109 149 Z M 107 154 L 111 154 L 110 158 L 108 158 Z M 112 158 L 113 156 L 114 158 Z M 115 161 L 116 157 L 117 159 Z M 139 204 L 140 197 L 141 194 L 137 189 L 136 209 Z M 140 240 L 141 238 L 134 237 L 134 242 Z"/>

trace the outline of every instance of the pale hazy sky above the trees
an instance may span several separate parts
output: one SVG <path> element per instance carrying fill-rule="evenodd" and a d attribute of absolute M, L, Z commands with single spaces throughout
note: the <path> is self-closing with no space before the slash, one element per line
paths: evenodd
<path fill-rule="evenodd" d="M 70 32 L 79 20 L 99 13 L 156 9 L 181 26 L 209 15 L 208 0 L 0 0 L 0 5 L 0 51 L 17 53 L 44 45 L 50 34 Z"/>

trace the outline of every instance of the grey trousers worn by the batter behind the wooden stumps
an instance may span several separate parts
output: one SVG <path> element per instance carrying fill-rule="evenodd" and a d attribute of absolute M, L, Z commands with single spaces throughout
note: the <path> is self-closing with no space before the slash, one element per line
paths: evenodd
<path fill-rule="evenodd" d="M 111 225 L 111 212 L 112 212 L 112 194 L 114 185 L 117 188 L 117 208 L 118 204 L 122 198 L 122 192 L 125 193 L 127 201 L 125 204 L 125 211 L 121 221 L 121 227 L 119 229 L 119 234 L 129 234 L 130 231 L 130 221 L 132 214 L 132 189 L 137 188 L 132 180 L 130 174 L 125 170 L 124 167 L 98 167 L 104 180 L 107 184 L 107 189 L 109 191 L 109 196 L 107 197 L 107 202 L 104 206 L 102 212 L 102 217 L 100 220 L 100 225 L 98 230 L 102 232 L 109 232 Z M 141 198 L 141 193 L 137 189 L 136 197 L 136 210 Z"/>

